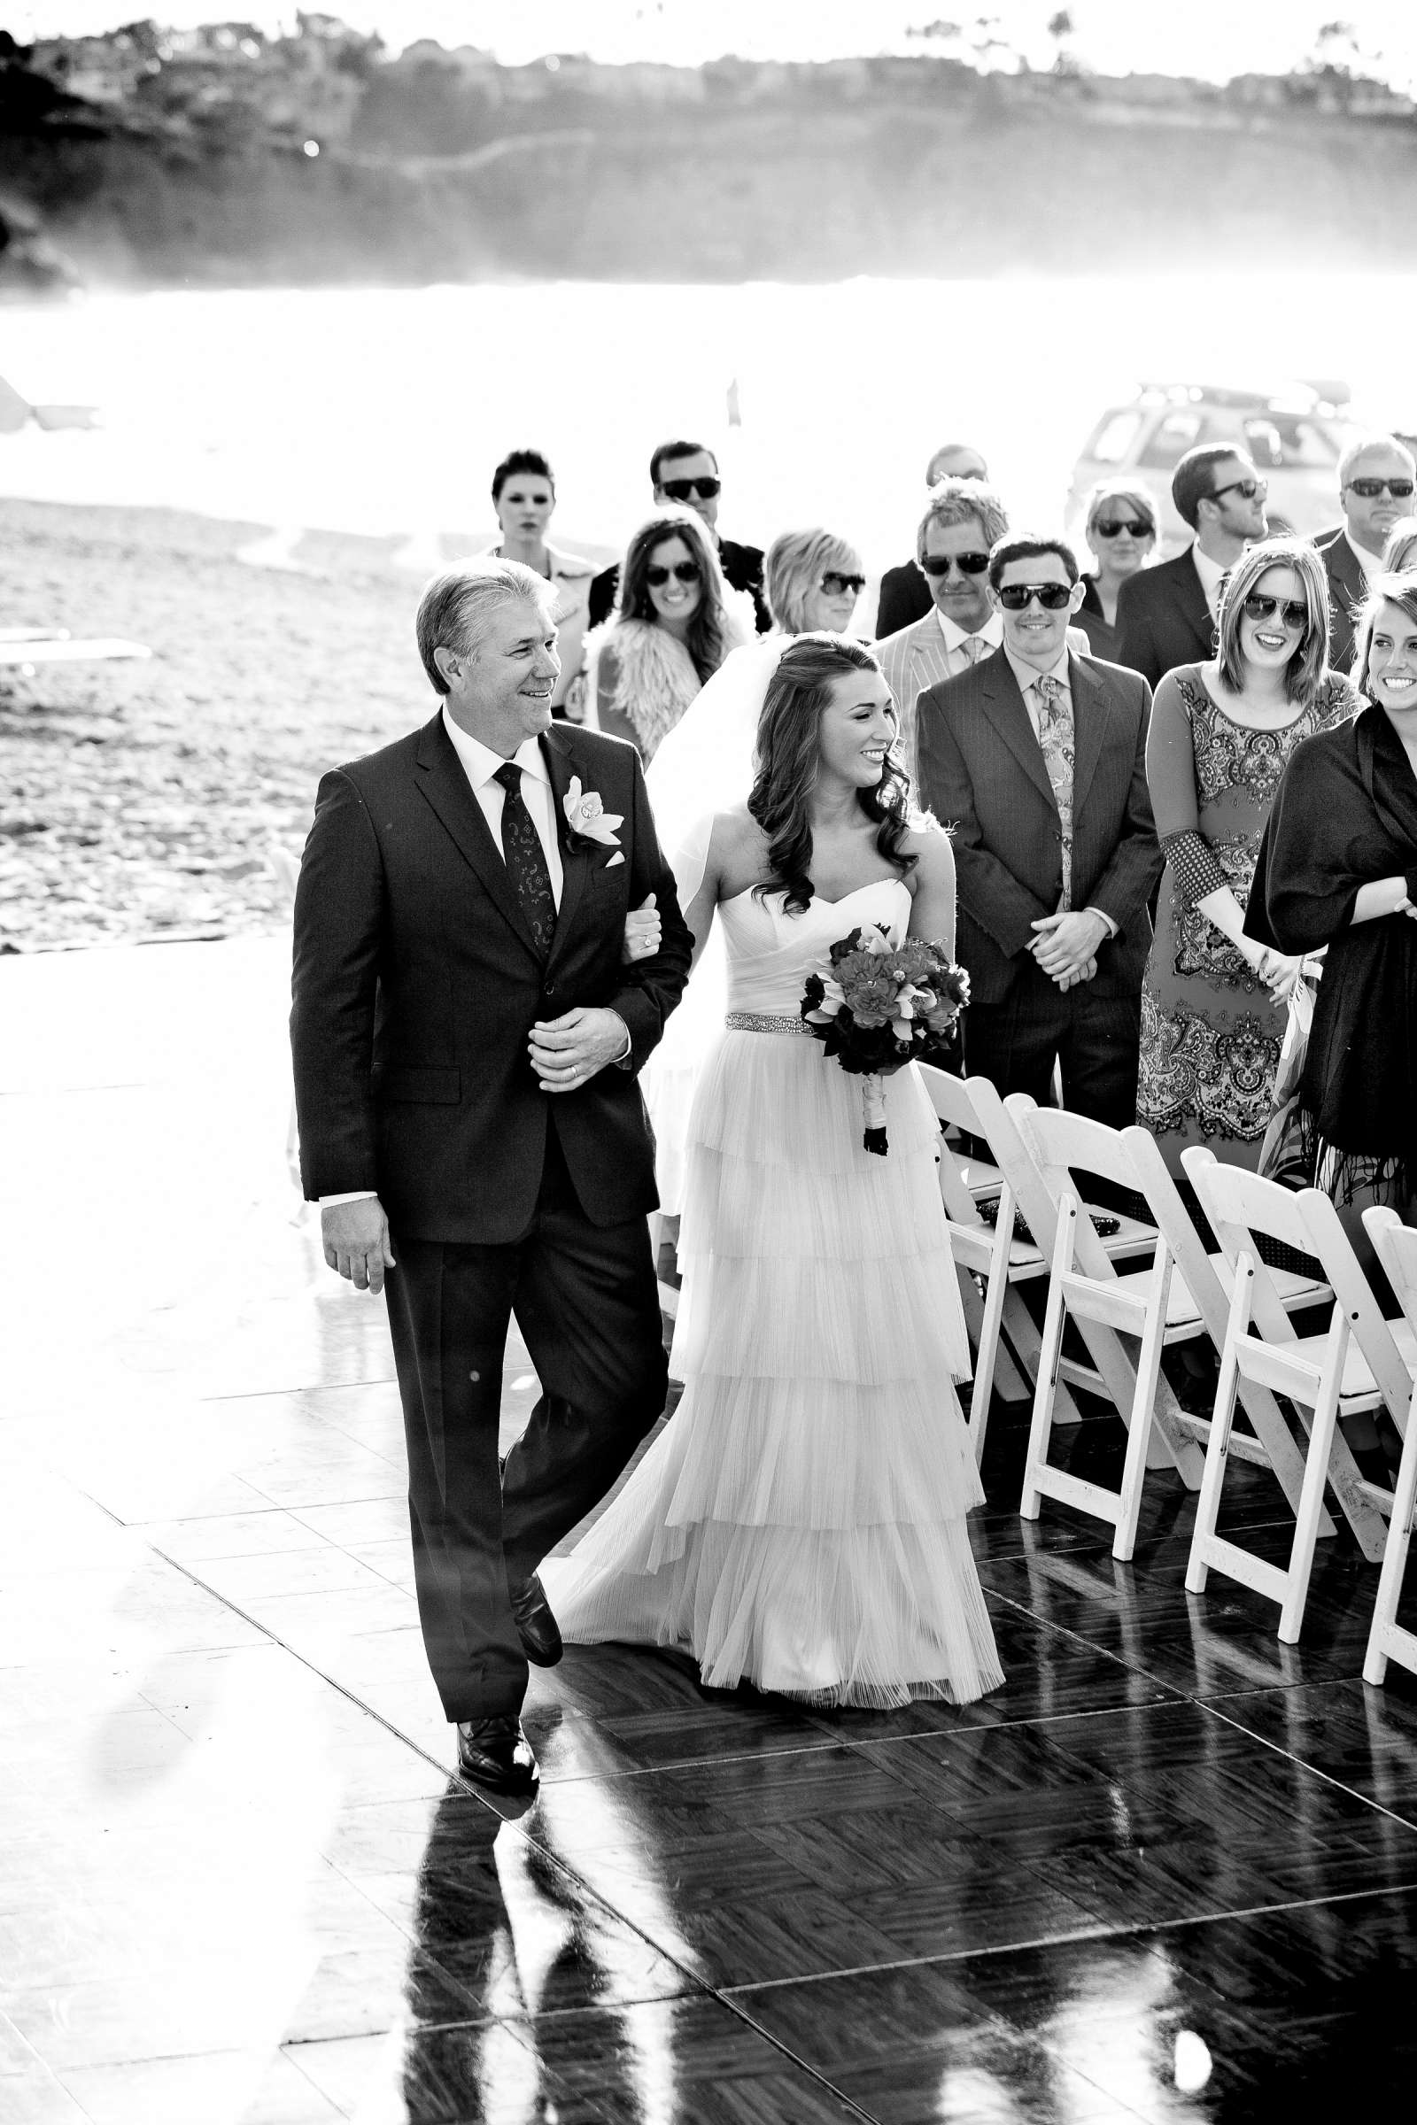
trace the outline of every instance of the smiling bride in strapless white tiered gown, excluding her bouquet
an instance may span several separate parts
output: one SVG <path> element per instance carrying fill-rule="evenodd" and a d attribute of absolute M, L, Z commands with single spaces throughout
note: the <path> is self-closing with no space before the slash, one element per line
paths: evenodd
<path fill-rule="evenodd" d="M 1001 1681 L 964 1515 L 984 1492 L 954 1383 L 969 1345 L 914 1067 L 890 1152 L 860 1080 L 799 1018 L 863 922 L 954 948 L 954 858 L 911 831 L 890 691 L 835 635 L 786 648 L 748 805 L 714 818 L 688 922 L 714 912 L 729 1018 L 688 1130 L 671 1371 L 684 1396 L 569 1558 L 561 1634 L 688 1651 L 703 1683 L 897 1706 Z"/>

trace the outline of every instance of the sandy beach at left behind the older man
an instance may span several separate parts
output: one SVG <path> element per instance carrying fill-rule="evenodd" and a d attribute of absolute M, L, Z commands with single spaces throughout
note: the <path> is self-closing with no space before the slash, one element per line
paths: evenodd
<path fill-rule="evenodd" d="M 323 767 L 429 712 L 395 540 L 4 502 L 0 625 L 125 635 L 151 661 L 0 669 L 0 952 L 278 929 Z M 448 536 L 446 552 L 472 540 Z"/>

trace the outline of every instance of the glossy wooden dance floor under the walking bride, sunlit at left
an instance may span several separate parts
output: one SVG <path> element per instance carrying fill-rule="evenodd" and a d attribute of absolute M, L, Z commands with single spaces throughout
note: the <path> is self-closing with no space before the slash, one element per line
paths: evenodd
<path fill-rule="evenodd" d="M 283 1014 L 278 941 L 0 960 L 0 2121 L 1411 2106 L 1417 1692 L 1360 1681 L 1377 1570 L 1324 1543 L 1281 1649 L 1258 1596 L 1183 1592 L 1175 1479 L 1130 1566 L 1022 1526 L 1020 1411 L 984 1704 L 826 1717 L 569 1649 L 540 1802 L 450 1776 L 382 1311 L 291 1190 Z M 508 1352 L 508 1432 L 533 1392 Z M 1287 1545 L 1264 1473 L 1228 1496 Z"/>

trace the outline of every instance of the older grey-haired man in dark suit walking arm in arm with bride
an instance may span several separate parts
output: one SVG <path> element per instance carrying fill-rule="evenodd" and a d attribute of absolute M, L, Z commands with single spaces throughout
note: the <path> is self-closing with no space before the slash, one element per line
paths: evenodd
<path fill-rule="evenodd" d="M 635 1073 L 693 950 L 635 748 L 552 725 L 554 640 L 518 561 L 431 582 L 438 714 L 323 778 L 295 895 L 306 1196 L 329 1266 L 389 1286 L 423 1640 L 459 1768 L 512 1794 L 527 1662 L 561 1655 L 537 1564 L 665 1402 Z M 542 1396 L 499 1473 L 512 1313 Z"/>

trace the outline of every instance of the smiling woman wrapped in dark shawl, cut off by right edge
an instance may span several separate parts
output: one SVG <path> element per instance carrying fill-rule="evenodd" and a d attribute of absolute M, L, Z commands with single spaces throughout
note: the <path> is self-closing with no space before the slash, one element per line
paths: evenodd
<path fill-rule="evenodd" d="M 1279 952 L 1328 946 L 1300 1120 L 1362 1239 L 1362 1203 L 1417 1224 L 1417 574 L 1372 582 L 1353 678 L 1360 714 L 1283 774 L 1245 929 Z"/>

